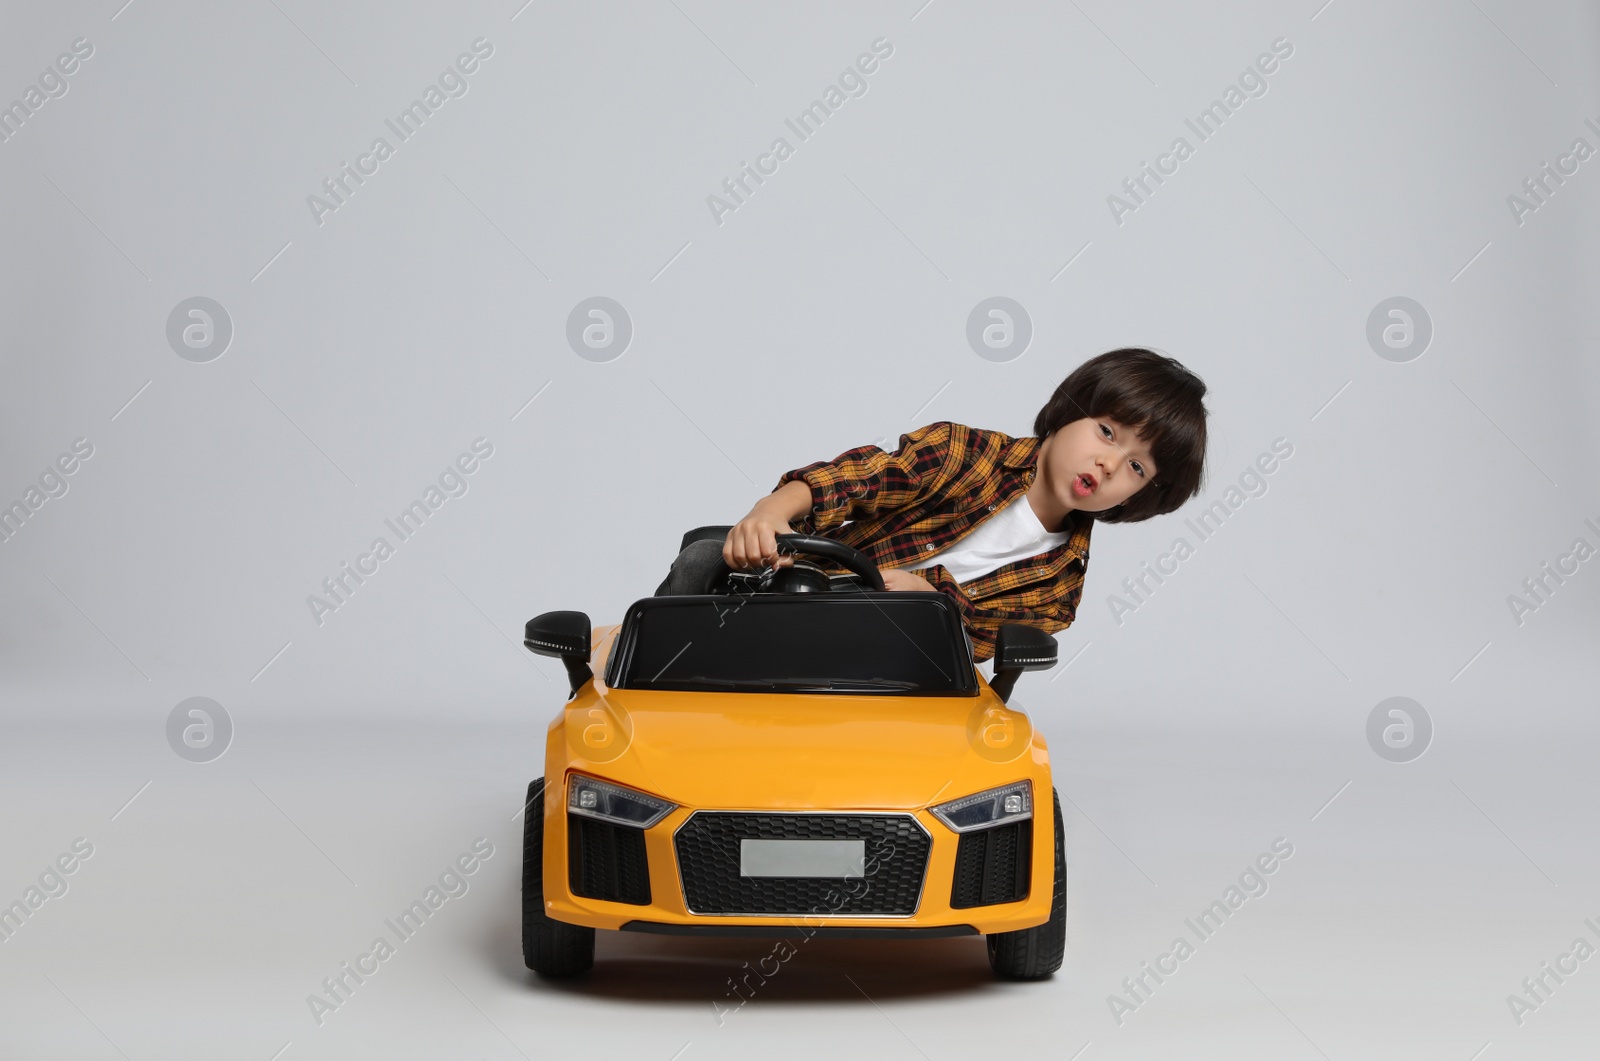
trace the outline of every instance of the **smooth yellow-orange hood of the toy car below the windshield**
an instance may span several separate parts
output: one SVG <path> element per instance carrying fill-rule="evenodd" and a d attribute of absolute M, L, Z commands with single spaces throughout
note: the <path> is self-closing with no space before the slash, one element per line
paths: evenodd
<path fill-rule="evenodd" d="M 979 696 L 586 690 L 568 762 L 706 808 L 920 808 L 1035 773 L 1027 715 Z"/>

